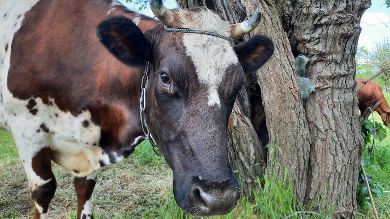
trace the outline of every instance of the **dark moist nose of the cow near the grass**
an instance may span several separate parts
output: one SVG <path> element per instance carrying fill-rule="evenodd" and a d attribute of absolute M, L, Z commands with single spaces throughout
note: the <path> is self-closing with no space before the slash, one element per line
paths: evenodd
<path fill-rule="evenodd" d="M 201 216 L 225 215 L 236 206 L 238 191 L 236 187 L 194 185 L 190 197 L 198 205 Z"/>

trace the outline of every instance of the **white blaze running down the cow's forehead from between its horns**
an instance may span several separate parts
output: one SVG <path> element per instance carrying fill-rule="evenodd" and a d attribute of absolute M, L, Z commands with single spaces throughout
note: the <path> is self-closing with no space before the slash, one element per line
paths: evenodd
<path fill-rule="evenodd" d="M 208 9 L 186 14 L 182 18 L 184 28 L 201 29 L 230 36 L 231 24 L 223 21 Z M 183 34 L 183 45 L 186 53 L 194 62 L 196 74 L 201 84 L 208 86 L 208 106 L 221 106 L 218 89 L 227 67 L 237 64 L 238 58 L 231 43 L 219 37 L 204 34 Z"/>

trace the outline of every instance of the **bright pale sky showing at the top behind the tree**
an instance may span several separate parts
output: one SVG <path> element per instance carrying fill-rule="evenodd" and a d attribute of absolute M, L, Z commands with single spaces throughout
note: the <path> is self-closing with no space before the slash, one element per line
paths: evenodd
<path fill-rule="evenodd" d="M 126 0 L 120 0 L 128 8 L 138 11 L 139 5 L 126 3 Z M 368 8 L 361 20 L 362 32 L 360 33 L 358 46 L 372 50 L 375 42 L 381 41 L 383 37 L 390 37 L 390 8 L 386 8 L 385 0 L 371 0 L 371 7 Z M 167 8 L 175 8 L 175 0 L 166 0 L 164 5 Z M 149 4 L 142 11 L 143 14 L 153 16 Z"/>

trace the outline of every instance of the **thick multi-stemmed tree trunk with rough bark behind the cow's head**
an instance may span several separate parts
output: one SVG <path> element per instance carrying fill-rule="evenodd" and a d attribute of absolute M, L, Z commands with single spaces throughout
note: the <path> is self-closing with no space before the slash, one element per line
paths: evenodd
<path fill-rule="evenodd" d="M 252 3 L 177 1 L 182 7 L 207 6 L 231 23 L 241 22 Z M 254 179 L 264 172 L 262 161 L 267 160 L 267 170 L 279 174 L 280 179 L 287 168 L 298 201 L 313 202 L 314 209 L 317 200 L 334 203 L 336 218 L 352 218 L 363 146 L 354 57 L 359 21 L 370 2 L 257 2 L 263 17 L 251 35 L 270 37 L 275 52 L 255 75 L 247 77 L 229 121 L 229 155 L 233 168 L 239 170 L 244 194 L 251 194 Z M 293 54 L 310 59 L 306 75 L 316 90 L 305 101 L 299 92 Z M 267 144 L 268 151 L 259 149 Z M 260 165 L 253 165 L 256 159 Z M 279 166 L 273 165 L 277 162 Z"/>

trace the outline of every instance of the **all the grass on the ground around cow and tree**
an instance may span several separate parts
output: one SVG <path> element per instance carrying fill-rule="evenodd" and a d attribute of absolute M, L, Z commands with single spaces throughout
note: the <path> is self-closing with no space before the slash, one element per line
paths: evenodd
<path fill-rule="evenodd" d="M 385 93 L 385 97 L 390 102 L 390 94 Z M 379 115 L 375 118 L 380 121 Z M 368 169 L 367 174 L 380 182 L 385 191 L 390 191 L 390 132 L 387 131 L 386 139 L 376 144 L 373 168 Z M 7 132 L 0 131 L 0 139 L 0 219 L 31 218 L 33 203 L 16 146 Z M 49 218 L 74 219 L 77 205 L 73 177 L 56 164 L 52 168 L 57 190 Z M 255 200 L 242 197 L 230 214 L 210 219 L 279 219 L 300 210 L 286 178 L 278 181 L 276 176 L 268 174 L 262 182 L 261 189 L 255 192 Z M 143 142 L 128 159 L 104 167 L 98 174 L 92 195 L 94 216 L 96 219 L 195 219 L 176 205 L 171 188 L 172 172 L 164 158 L 155 155 L 151 146 Z M 390 195 L 375 198 L 375 204 L 380 218 L 390 218 Z M 330 206 L 322 204 L 320 213 L 331 218 Z M 373 219 L 373 215 L 370 206 L 360 206 L 356 218 Z"/>

